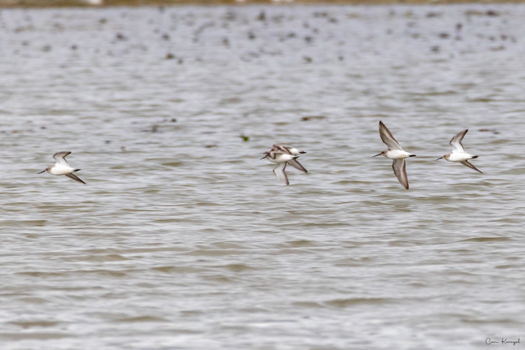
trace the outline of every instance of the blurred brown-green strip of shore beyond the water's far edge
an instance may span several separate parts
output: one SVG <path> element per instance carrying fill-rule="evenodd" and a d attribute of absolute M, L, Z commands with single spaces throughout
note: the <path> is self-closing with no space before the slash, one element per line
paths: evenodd
<path fill-rule="evenodd" d="M 232 4 L 462 4 L 521 3 L 525 0 L 0 0 L 0 7 L 62 7 L 62 6 L 171 6 Z"/>

